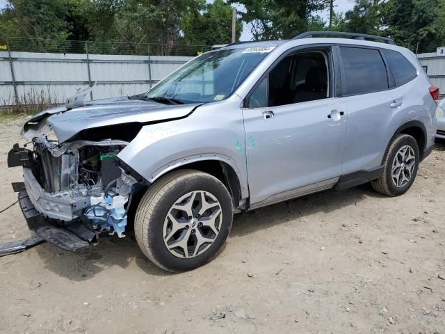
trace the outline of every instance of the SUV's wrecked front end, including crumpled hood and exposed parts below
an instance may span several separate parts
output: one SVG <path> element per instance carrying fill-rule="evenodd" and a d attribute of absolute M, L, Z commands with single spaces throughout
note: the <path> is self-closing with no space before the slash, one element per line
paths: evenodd
<path fill-rule="evenodd" d="M 102 233 L 124 237 L 131 200 L 137 202 L 134 196 L 149 183 L 118 154 L 143 127 L 185 118 L 198 105 L 143 95 L 85 102 L 89 89 L 29 119 L 22 129 L 29 143 L 15 144 L 8 154 L 9 167 L 23 167 L 24 182 L 13 189 L 29 228 L 68 250 Z"/>

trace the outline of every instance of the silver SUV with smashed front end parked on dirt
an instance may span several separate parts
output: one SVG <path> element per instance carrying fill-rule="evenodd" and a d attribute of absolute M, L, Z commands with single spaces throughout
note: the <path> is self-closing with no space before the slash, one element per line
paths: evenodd
<path fill-rule="evenodd" d="M 68 250 L 134 228 L 168 271 L 209 262 L 236 212 L 365 182 L 405 193 L 439 98 L 411 51 L 326 32 L 209 51 L 140 95 L 88 93 L 31 118 L 31 149 L 8 154 L 26 221 Z"/>

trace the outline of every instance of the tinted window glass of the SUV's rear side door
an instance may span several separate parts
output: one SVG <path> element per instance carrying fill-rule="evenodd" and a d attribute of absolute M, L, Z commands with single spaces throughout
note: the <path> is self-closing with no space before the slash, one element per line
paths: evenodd
<path fill-rule="evenodd" d="M 357 95 L 389 88 L 385 63 L 380 51 L 359 47 L 340 47 L 343 63 L 343 95 Z"/>

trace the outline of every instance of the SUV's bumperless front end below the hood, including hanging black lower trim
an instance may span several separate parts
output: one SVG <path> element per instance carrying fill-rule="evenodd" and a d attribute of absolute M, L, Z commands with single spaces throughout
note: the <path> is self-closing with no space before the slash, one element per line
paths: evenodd
<path fill-rule="evenodd" d="M 118 158 L 129 142 L 60 144 L 50 137 L 35 136 L 26 145 L 32 145 L 31 150 L 15 144 L 8 154 L 8 167 L 23 166 L 24 182 L 13 188 L 19 191 L 29 228 L 67 250 L 88 246 L 102 233 L 124 237 L 131 198 L 139 184 Z"/>

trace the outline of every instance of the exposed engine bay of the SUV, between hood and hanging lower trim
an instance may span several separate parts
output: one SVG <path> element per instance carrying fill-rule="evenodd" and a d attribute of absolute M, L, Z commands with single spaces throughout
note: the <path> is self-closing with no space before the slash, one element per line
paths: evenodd
<path fill-rule="evenodd" d="M 36 209 L 59 224 L 81 221 L 92 232 L 124 237 L 132 186 L 137 183 L 124 173 L 117 157 L 128 143 L 108 139 L 59 145 L 36 137 L 32 144 L 33 150 L 18 152 Z"/>

